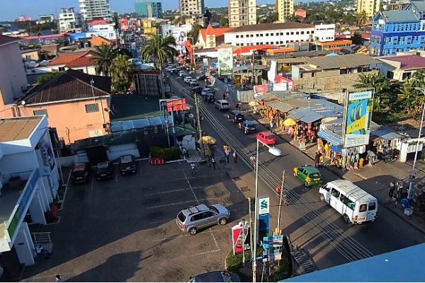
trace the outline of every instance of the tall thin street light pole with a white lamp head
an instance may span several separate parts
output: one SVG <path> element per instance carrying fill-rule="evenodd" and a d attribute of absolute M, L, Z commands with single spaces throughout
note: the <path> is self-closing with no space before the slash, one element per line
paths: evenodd
<path fill-rule="evenodd" d="M 252 262 L 252 282 L 256 282 L 256 246 L 258 241 L 258 222 L 259 222 L 259 144 L 261 141 L 257 139 L 256 144 L 256 166 L 255 166 L 255 208 L 254 208 L 254 247 L 253 247 L 253 262 Z M 274 146 L 268 146 L 267 144 L 264 144 L 261 142 L 263 146 L 268 147 L 268 152 L 273 154 L 274 156 L 280 156 L 282 155 L 282 151 L 280 149 L 274 147 Z"/>

